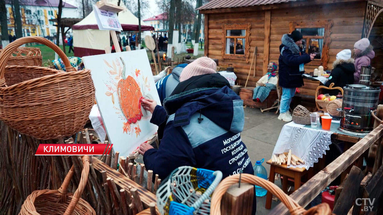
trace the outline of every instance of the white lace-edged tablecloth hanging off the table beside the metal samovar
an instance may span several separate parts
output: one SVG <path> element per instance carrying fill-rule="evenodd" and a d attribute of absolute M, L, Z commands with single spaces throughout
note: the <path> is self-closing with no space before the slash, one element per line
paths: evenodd
<path fill-rule="evenodd" d="M 304 128 L 304 125 L 289 122 L 283 125 L 273 154 L 281 154 L 291 149 L 292 153 L 301 158 L 305 164 L 289 165 L 288 168 L 309 169 L 318 162 L 318 158 L 326 155 L 326 150 L 329 150 L 331 144 L 331 134 L 333 134 L 331 131 Z"/>

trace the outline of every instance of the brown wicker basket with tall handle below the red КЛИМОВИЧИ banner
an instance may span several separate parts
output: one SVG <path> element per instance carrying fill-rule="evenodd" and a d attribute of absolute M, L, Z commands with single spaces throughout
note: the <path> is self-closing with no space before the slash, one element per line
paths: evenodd
<path fill-rule="evenodd" d="M 89 156 L 82 156 L 82 163 L 81 180 L 74 194 L 67 193 L 70 179 L 74 174 L 74 166 L 72 166 L 58 190 L 33 191 L 28 195 L 23 205 L 21 205 L 19 215 L 70 215 L 72 213 L 75 215 L 96 215 L 92 206 L 81 199 L 88 180 Z"/>

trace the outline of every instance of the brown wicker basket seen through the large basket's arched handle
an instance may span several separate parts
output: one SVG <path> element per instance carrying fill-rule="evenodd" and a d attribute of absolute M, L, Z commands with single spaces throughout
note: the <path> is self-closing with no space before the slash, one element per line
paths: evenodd
<path fill-rule="evenodd" d="M 3 49 L 0 49 L 0 53 Z M 43 57 L 39 48 L 20 47 L 14 50 L 9 59 L 7 66 L 38 66 L 43 65 Z"/>

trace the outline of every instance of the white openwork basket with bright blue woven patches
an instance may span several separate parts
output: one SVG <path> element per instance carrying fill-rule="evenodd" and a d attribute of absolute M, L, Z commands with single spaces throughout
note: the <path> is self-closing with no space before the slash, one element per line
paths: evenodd
<path fill-rule="evenodd" d="M 210 214 L 210 195 L 222 179 L 221 171 L 181 166 L 167 179 L 156 193 L 161 214 Z"/>

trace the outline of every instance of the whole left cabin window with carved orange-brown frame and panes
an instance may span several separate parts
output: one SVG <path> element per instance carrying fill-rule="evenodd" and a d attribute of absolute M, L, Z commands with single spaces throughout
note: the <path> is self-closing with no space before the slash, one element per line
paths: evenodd
<path fill-rule="evenodd" d="M 246 59 L 249 63 L 251 24 L 223 24 L 222 59 Z"/>

